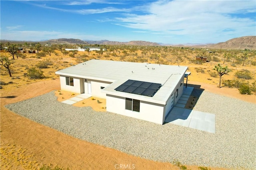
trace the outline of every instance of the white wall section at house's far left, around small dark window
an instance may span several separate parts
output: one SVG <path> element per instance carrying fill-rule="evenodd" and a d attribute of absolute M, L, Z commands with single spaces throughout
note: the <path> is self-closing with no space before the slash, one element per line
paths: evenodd
<path fill-rule="evenodd" d="M 74 86 L 66 85 L 66 76 L 60 76 L 60 89 L 68 92 L 81 94 L 80 78 L 72 77 L 74 80 Z"/>

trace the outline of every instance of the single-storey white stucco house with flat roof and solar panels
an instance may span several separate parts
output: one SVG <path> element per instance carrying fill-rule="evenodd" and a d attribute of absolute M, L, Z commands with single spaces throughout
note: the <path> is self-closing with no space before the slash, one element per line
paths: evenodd
<path fill-rule="evenodd" d="M 59 70 L 61 90 L 106 99 L 106 110 L 163 124 L 188 67 L 90 60 Z"/>

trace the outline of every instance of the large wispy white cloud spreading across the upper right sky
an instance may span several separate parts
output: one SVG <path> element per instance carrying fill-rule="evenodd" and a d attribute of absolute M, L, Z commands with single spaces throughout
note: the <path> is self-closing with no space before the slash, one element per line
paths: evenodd
<path fill-rule="evenodd" d="M 223 30 L 255 33 L 255 20 L 232 17 L 255 11 L 255 1 L 157 1 L 144 9 L 146 14 L 115 18 L 117 25 L 171 35 L 212 36 Z"/>

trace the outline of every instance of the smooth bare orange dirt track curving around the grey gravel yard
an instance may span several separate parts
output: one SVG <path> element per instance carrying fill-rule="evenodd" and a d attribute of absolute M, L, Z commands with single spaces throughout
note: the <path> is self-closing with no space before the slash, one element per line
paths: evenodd
<path fill-rule="evenodd" d="M 201 84 L 200 88 L 210 92 L 255 102 L 255 96 L 240 95 L 236 89 L 219 89 L 214 85 L 191 81 L 188 83 Z M 1 90 L 1 169 L 36 169 L 43 164 L 69 169 L 122 169 L 123 165 L 127 169 L 179 169 L 167 162 L 154 162 L 81 141 L 16 115 L 4 107 L 59 89 L 57 79 L 28 84 L 14 91 Z M 198 169 L 198 166 L 187 167 Z"/>

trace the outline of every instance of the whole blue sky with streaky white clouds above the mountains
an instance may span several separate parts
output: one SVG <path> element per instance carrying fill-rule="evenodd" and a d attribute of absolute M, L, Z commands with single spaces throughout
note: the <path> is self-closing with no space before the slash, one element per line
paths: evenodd
<path fill-rule="evenodd" d="M 0 1 L 0 39 L 218 43 L 256 35 L 256 1 Z"/>

